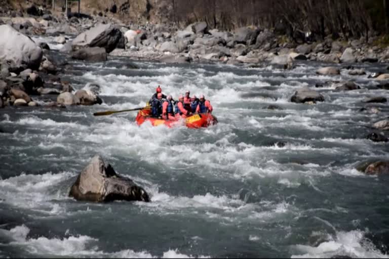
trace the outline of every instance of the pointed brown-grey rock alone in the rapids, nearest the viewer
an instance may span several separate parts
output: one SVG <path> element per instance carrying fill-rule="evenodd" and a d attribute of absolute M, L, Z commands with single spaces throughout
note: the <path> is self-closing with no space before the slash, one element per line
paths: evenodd
<path fill-rule="evenodd" d="M 96 155 L 84 168 L 71 186 L 70 197 L 76 200 L 106 202 L 113 200 L 146 201 L 146 191 L 131 179 L 119 176 L 110 164 L 105 166 L 101 156 Z"/>

